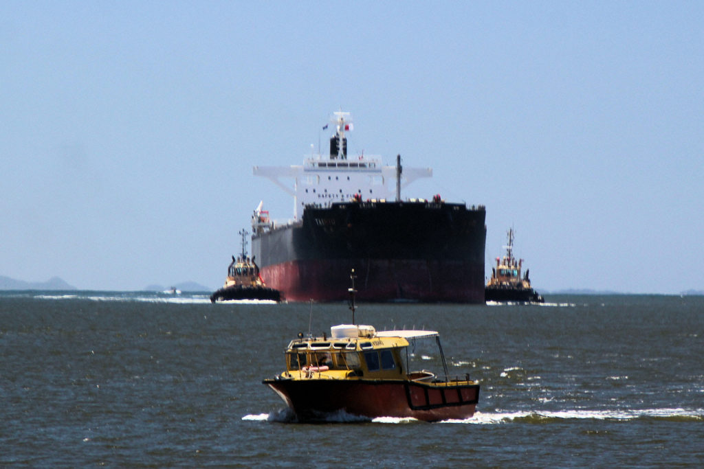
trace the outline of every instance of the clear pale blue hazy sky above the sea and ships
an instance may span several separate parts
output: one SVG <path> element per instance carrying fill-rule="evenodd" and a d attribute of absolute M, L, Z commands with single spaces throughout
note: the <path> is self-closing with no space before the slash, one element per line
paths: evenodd
<path fill-rule="evenodd" d="M 4 1 L 0 275 L 218 288 L 329 115 L 534 286 L 704 289 L 704 2 Z"/>

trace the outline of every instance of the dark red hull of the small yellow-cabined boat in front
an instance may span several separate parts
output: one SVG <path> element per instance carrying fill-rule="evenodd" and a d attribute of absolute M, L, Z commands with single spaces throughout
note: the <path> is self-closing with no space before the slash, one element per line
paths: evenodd
<path fill-rule="evenodd" d="M 354 416 L 416 418 L 427 422 L 474 415 L 479 385 L 406 380 L 265 380 L 301 421 L 345 411 Z"/>

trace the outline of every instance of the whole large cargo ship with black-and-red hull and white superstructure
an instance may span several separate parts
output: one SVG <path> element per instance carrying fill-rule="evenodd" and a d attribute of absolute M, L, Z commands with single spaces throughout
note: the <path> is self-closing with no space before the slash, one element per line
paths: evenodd
<path fill-rule="evenodd" d="M 253 169 L 294 197 L 292 220 L 272 221 L 261 203 L 253 215 L 252 254 L 265 283 L 287 300 L 344 300 L 354 269 L 358 300 L 484 302 L 484 207 L 439 195 L 403 200 L 401 188 L 432 169 L 403 168 L 400 156 L 395 167 L 348 158 L 349 113 L 332 123 L 329 155 Z"/>

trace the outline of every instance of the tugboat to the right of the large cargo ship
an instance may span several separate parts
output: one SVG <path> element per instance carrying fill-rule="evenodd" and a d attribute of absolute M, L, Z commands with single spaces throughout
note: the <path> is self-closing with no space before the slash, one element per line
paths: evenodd
<path fill-rule="evenodd" d="M 521 278 L 523 259 L 516 262 L 513 257 L 513 228 L 508 230 L 506 255 L 500 261 L 496 257 L 496 267 L 491 269 L 491 278 L 484 288 L 484 300 L 494 302 L 542 303 L 539 295 L 530 284 L 529 269 Z"/>

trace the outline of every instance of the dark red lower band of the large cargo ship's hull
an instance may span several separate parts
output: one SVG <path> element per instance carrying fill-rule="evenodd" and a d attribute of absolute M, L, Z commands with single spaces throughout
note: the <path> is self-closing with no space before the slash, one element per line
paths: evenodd
<path fill-rule="evenodd" d="M 484 302 L 484 272 L 461 260 L 303 259 L 262 267 L 261 276 L 289 301 L 339 301 L 351 269 L 361 301 Z"/>

